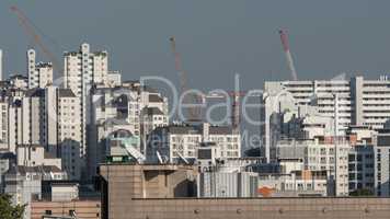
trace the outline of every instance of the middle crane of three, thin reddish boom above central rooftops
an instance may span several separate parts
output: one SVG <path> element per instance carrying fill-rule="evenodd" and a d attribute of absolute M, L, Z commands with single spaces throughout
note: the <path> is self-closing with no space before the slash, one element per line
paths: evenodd
<path fill-rule="evenodd" d="M 182 60 L 181 60 L 181 55 L 180 53 L 176 50 L 176 41 L 175 37 L 170 37 L 170 42 L 171 42 L 171 49 L 172 49 L 172 54 L 174 56 L 174 66 L 175 66 L 175 70 L 179 72 L 179 77 L 180 77 L 180 92 L 183 95 L 185 93 L 185 91 L 187 91 L 187 76 L 186 72 L 182 69 Z M 200 99 L 198 95 L 194 94 L 194 93 L 188 93 L 186 96 L 183 96 L 183 102 L 188 104 L 197 104 L 200 103 Z M 179 107 L 176 108 L 176 118 L 179 117 Z M 195 122 L 195 120 L 200 120 L 200 108 L 199 107 L 188 107 L 186 108 L 186 114 L 188 116 L 188 120 Z"/>

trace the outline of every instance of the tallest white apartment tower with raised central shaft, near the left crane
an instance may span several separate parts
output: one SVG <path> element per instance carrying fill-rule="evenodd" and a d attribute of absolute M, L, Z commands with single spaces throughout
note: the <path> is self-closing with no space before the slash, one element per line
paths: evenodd
<path fill-rule="evenodd" d="M 93 84 L 104 83 L 108 74 L 107 51 L 90 51 L 90 45 L 83 43 L 79 51 L 64 54 L 65 88 L 70 89 L 80 99 L 81 151 L 85 151 L 87 124 L 90 107 L 90 90 Z"/>

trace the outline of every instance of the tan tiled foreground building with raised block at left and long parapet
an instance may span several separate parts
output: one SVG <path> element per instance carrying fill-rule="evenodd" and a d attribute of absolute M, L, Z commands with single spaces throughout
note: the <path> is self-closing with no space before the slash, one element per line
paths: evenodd
<path fill-rule="evenodd" d="M 380 219 L 390 216 L 390 198 L 176 198 L 172 192 L 174 186 L 167 188 L 159 180 L 163 173 L 168 174 L 172 185 L 181 185 L 187 181 L 183 178 L 183 173 L 190 174 L 190 170 L 191 166 L 177 165 L 102 165 L 102 218 Z M 152 177 L 156 181 L 153 187 L 145 185 L 148 184 L 146 172 L 159 172 L 158 178 Z M 177 175 L 172 175 L 174 172 Z M 154 192 L 148 192 L 148 188 Z M 156 194 L 164 194 L 168 198 L 153 198 Z"/>

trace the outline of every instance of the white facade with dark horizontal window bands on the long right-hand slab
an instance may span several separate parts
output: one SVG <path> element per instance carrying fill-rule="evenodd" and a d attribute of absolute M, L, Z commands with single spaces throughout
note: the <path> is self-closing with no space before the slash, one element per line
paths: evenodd
<path fill-rule="evenodd" d="M 334 115 L 334 94 L 339 96 L 339 125 L 367 125 L 380 129 L 390 118 L 390 81 L 351 80 L 280 81 L 265 82 L 265 91 L 278 93 L 283 89 L 290 92 L 299 105 L 317 102 L 323 116 Z"/>

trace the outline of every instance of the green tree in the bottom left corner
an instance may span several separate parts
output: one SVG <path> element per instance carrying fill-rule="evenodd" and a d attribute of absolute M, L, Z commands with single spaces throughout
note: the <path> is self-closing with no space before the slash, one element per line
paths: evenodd
<path fill-rule="evenodd" d="M 8 194 L 0 194 L 0 218 L 1 219 L 23 219 L 25 206 L 13 206 L 11 201 L 12 196 Z"/>

